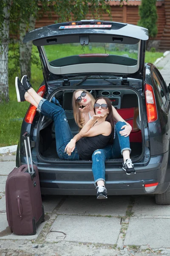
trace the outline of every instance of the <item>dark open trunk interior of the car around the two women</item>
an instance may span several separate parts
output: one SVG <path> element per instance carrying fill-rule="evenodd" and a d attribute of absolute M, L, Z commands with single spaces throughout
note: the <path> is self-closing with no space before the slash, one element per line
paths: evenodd
<path fill-rule="evenodd" d="M 142 82 L 141 82 L 142 83 Z M 76 88 L 77 89 L 77 88 Z M 138 90 L 134 90 L 130 87 L 105 87 L 104 89 L 88 90 L 92 95 L 97 98 L 100 96 L 108 97 L 111 100 L 112 105 L 116 108 L 120 116 L 125 119 L 126 122 L 132 126 L 130 133 L 130 157 L 133 161 L 139 159 L 142 154 L 142 132 L 141 132 L 141 114 L 140 114 L 140 98 Z M 75 89 L 74 89 L 75 90 Z M 58 90 L 51 96 L 50 101 L 55 104 L 55 100 L 58 99 L 60 105 L 65 110 L 68 123 L 70 125 L 73 136 L 79 132 L 79 127 L 74 121 L 73 108 L 72 108 L 72 94 L 74 90 Z M 39 153 L 45 160 L 57 161 L 59 159 L 56 151 L 55 129 L 53 120 L 43 116 L 40 118 L 40 137 L 39 137 Z M 119 160 L 122 160 L 120 155 Z M 67 161 L 67 160 L 64 160 Z M 82 160 L 79 160 L 82 161 Z"/>

